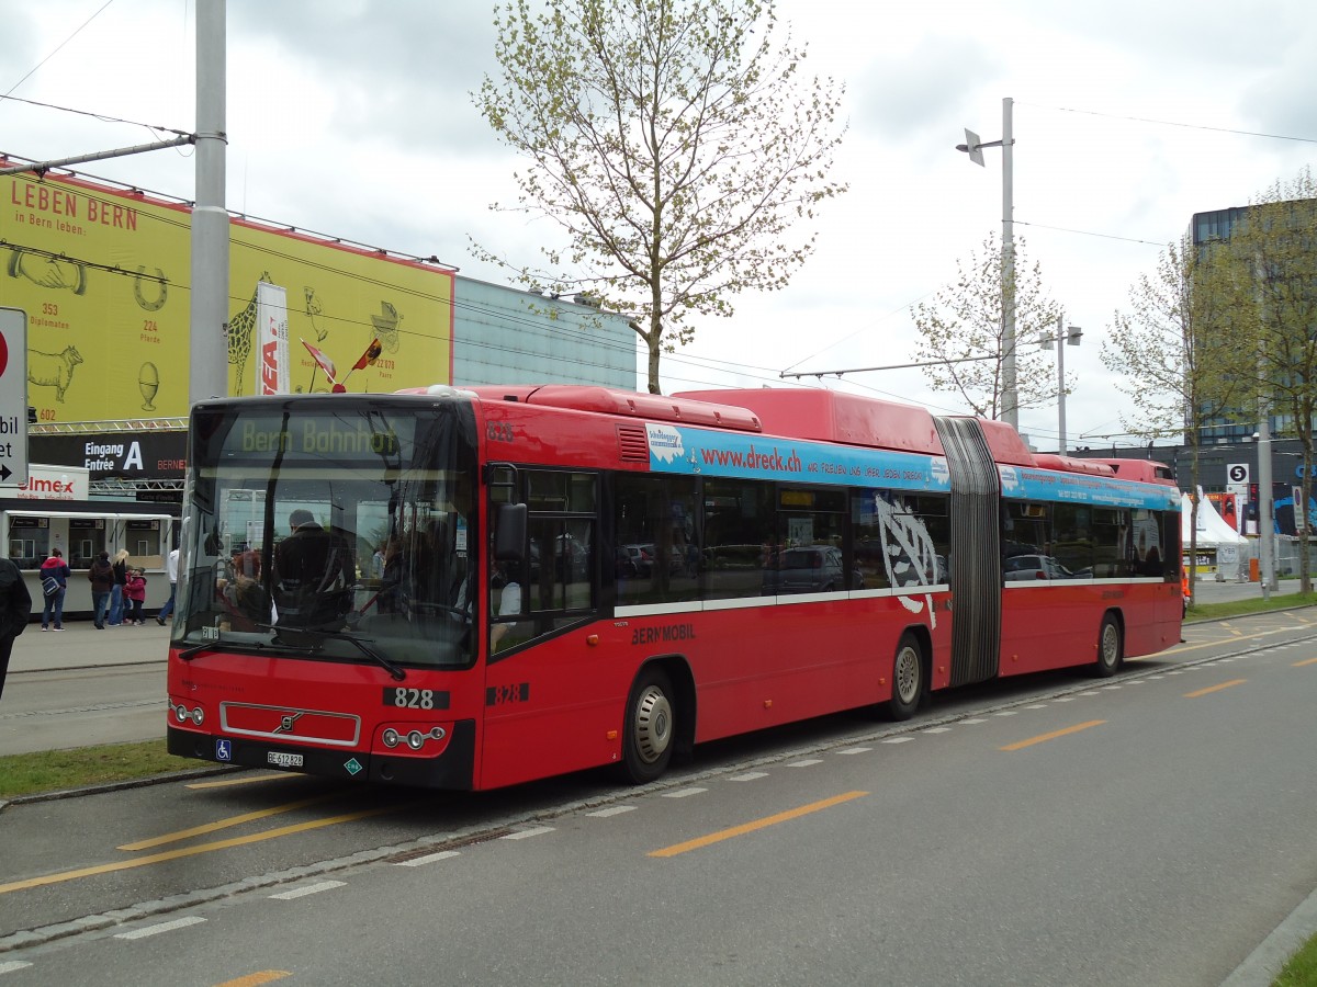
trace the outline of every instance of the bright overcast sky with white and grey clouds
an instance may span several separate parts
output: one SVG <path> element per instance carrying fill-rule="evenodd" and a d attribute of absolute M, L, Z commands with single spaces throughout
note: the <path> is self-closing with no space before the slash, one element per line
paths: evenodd
<path fill-rule="evenodd" d="M 0 0 L 0 151 L 55 159 L 195 128 L 196 0 Z M 470 240 L 533 263 L 556 230 L 491 212 L 510 155 L 470 93 L 493 59 L 485 0 L 228 0 L 228 207 L 506 282 Z M 1195 212 L 1245 205 L 1317 157 L 1312 0 L 778 0 L 807 66 L 846 86 L 849 130 L 817 253 L 789 290 L 740 296 L 665 357 L 665 391 L 914 361 L 913 304 L 1001 230 L 1014 100 L 1015 234 L 1084 329 L 1068 347 L 1069 443 L 1130 442 L 1100 361 L 1113 312 Z M 190 149 L 84 174 L 192 197 Z M 810 384 L 818 384 L 814 378 Z M 822 386 L 964 412 L 917 370 Z M 1055 404 L 1021 413 L 1055 449 Z M 1113 436 L 1115 437 L 1113 440 Z"/>

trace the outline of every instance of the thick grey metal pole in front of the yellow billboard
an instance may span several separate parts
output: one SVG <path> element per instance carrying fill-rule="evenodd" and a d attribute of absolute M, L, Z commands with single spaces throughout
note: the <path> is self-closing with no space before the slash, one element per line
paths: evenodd
<path fill-rule="evenodd" d="M 224 105 L 225 0 L 196 4 L 196 204 L 192 208 L 192 307 L 188 401 L 228 393 L 229 213 Z"/>

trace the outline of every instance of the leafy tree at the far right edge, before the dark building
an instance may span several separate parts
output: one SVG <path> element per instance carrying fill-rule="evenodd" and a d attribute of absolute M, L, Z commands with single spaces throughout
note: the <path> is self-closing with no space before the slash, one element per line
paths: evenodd
<path fill-rule="evenodd" d="M 1276 182 L 1249 205 L 1230 233 L 1230 254 L 1247 271 L 1256 340 L 1256 386 L 1263 405 L 1280 418 L 1277 436 L 1292 436 L 1303 450 L 1299 530 L 1300 591 L 1312 588 L 1308 559 L 1312 497 L 1313 421 L 1317 417 L 1317 183 L 1304 168 Z"/>

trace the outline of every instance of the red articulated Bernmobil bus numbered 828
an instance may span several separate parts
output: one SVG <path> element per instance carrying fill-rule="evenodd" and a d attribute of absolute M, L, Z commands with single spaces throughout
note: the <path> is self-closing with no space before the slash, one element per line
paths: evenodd
<path fill-rule="evenodd" d="M 827 391 L 192 411 L 169 750 L 482 790 L 1180 638 L 1180 499 Z"/>

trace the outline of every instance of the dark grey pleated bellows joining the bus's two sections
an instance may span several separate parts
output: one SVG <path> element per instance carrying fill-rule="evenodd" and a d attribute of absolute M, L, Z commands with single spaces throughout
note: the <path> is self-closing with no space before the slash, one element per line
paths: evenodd
<path fill-rule="evenodd" d="M 975 418 L 938 417 L 951 474 L 951 684 L 997 675 L 1001 659 L 1001 479 Z"/>

